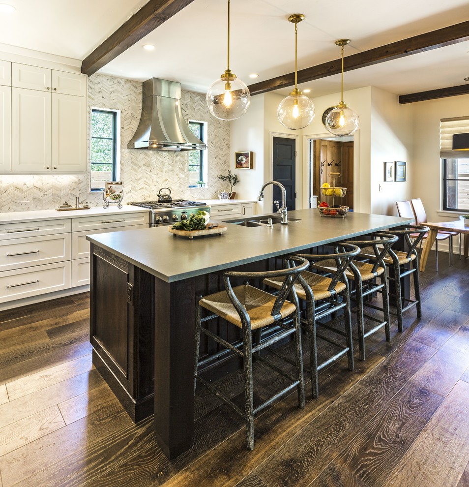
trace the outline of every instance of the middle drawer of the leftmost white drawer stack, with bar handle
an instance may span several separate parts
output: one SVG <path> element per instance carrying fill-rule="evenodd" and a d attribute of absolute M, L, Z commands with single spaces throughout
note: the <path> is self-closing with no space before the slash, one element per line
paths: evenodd
<path fill-rule="evenodd" d="M 0 241 L 0 271 L 70 260 L 69 233 Z"/>

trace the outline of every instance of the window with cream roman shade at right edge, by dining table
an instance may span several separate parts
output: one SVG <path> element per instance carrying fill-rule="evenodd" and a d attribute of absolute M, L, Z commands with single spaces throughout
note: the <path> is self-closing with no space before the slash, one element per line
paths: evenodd
<path fill-rule="evenodd" d="M 441 119 L 443 210 L 469 211 L 469 148 L 453 150 L 453 135 L 469 134 L 469 116 Z"/>

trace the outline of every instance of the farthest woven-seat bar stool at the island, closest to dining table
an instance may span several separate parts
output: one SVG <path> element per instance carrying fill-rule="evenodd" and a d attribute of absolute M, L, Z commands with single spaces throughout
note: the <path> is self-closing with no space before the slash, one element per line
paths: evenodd
<path fill-rule="evenodd" d="M 424 225 L 404 225 L 401 227 L 393 228 L 389 233 L 396 235 L 397 237 L 403 237 L 406 243 L 407 251 L 394 250 L 390 248 L 387 255 L 384 256 L 383 262 L 389 267 L 392 267 L 394 271 L 394 277 L 388 276 L 389 281 L 394 281 L 394 297 L 396 300 L 396 312 L 389 311 L 392 314 L 397 315 L 397 327 L 402 332 L 402 314 L 412 306 L 417 308 L 417 316 L 422 317 L 422 306 L 420 303 L 420 277 L 418 272 L 418 255 L 417 246 L 421 243 L 422 239 L 429 231 L 429 228 Z M 364 247 L 360 250 L 359 257 L 375 259 L 375 252 L 372 247 Z M 408 265 L 411 267 L 406 267 Z M 413 288 L 415 299 L 404 298 L 401 296 L 401 279 L 407 275 L 413 274 Z M 389 296 L 392 296 L 389 291 Z M 407 302 L 403 306 L 403 301 Z"/>

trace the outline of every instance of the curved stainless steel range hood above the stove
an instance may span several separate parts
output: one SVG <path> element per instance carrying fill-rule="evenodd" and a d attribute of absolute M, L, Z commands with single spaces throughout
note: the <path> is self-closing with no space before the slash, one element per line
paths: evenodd
<path fill-rule="evenodd" d="M 207 146 L 190 130 L 182 117 L 181 85 L 151 78 L 143 83 L 142 114 L 128 149 L 192 151 Z"/>

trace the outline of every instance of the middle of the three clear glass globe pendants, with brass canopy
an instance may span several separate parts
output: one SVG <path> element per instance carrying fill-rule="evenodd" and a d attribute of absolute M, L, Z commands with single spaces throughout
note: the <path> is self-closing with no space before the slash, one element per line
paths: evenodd
<path fill-rule="evenodd" d="M 314 104 L 296 88 L 296 57 L 298 51 L 298 22 L 304 19 L 303 14 L 293 14 L 288 18 L 295 25 L 295 87 L 289 96 L 284 98 L 277 109 L 280 123 L 291 130 L 299 130 L 309 125 L 314 118 Z"/>

